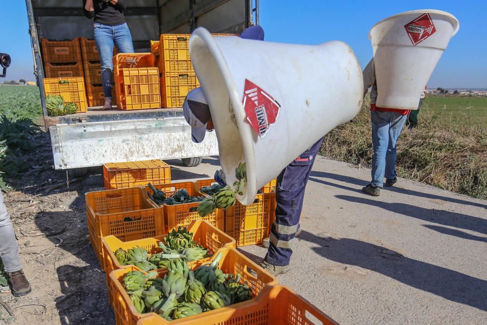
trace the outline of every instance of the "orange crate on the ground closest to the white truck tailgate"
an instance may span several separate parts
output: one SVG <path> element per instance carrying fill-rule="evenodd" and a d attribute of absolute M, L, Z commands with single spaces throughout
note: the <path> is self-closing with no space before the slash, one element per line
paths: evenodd
<path fill-rule="evenodd" d="M 131 187 L 168 184 L 171 182 L 171 167 L 162 160 L 144 160 L 103 165 L 105 188 L 126 189 Z"/>

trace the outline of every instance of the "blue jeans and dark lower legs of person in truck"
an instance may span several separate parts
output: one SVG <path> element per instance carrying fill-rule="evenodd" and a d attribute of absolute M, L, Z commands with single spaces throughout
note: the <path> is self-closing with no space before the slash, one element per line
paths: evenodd
<path fill-rule="evenodd" d="M 120 53 L 133 53 L 132 36 L 127 23 L 109 26 L 94 23 L 94 40 L 101 62 L 101 82 L 105 97 L 112 98 L 113 43 Z"/>

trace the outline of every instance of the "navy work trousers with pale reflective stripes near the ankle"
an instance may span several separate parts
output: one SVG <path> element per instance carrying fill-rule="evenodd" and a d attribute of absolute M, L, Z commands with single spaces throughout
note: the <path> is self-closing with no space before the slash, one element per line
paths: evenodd
<path fill-rule="evenodd" d="M 290 163 L 278 176 L 276 220 L 269 235 L 265 260 L 272 265 L 288 265 L 303 205 L 304 190 L 323 138 Z"/>

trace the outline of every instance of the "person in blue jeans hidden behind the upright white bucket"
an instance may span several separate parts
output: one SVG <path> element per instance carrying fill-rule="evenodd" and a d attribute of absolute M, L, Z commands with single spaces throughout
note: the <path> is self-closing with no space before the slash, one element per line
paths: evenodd
<path fill-rule="evenodd" d="M 375 80 L 374 58 L 363 71 L 364 97 L 370 87 L 370 117 L 372 121 L 372 146 L 374 155 L 372 156 L 372 181 L 369 185 L 362 188 L 362 192 L 379 196 L 382 189 L 384 177 L 385 186 L 393 186 L 397 182 L 395 162 L 396 162 L 396 142 L 401 134 L 404 125 L 409 125 L 413 129 L 418 124 L 418 114 L 425 91 L 419 100 L 418 109 L 414 111 L 400 110 L 393 108 L 377 107 L 377 83 Z"/>

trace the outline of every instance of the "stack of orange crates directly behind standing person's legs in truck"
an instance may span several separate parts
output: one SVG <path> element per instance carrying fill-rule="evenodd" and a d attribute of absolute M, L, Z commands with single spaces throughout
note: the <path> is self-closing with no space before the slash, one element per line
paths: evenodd
<path fill-rule="evenodd" d="M 80 45 L 89 106 L 102 106 L 105 102 L 105 95 L 101 82 L 101 63 L 98 49 L 94 39 L 82 37 L 80 38 Z M 117 49 L 113 47 L 113 56 L 116 54 Z M 113 104 L 115 104 L 114 94 L 115 90 L 113 89 Z"/>

